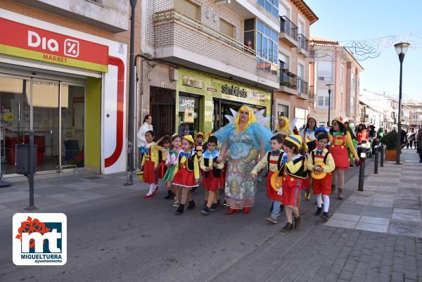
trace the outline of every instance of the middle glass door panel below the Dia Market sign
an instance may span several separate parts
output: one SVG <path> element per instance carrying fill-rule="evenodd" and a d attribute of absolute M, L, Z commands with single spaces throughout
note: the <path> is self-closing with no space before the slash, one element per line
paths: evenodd
<path fill-rule="evenodd" d="M 37 171 L 59 166 L 59 82 L 32 79 L 32 128 L 37 145 Z M 25 143 L 29 143 L 29 134 Z"/>

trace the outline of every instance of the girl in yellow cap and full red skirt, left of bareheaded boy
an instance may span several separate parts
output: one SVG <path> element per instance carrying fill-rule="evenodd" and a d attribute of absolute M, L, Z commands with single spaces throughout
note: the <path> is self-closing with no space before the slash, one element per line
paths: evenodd
<path fill-rule="evenodd" d="M 193 150 L 194 143 L 191 135 L 185 135 L 181 140 L 182 150 L 177 158 L 173 177 L 173 185 L 181 188 L 181 202 L 176 214 L 183 214 L 186 200 L 189 201 L 188 210 L 195 208 L 191 188 L 198 187 L 199 184 L 199 163 L 198 155 Z"/>

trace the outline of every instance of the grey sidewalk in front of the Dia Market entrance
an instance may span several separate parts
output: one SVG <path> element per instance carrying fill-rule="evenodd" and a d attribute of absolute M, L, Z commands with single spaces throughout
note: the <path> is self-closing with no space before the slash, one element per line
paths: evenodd
<path fill-rule="evenodd" d="M 13 181 L 14 179 L 6 179 Z M 99 200 L 123 193 L 136 193 L 147 189 L 134 174 L 134 185 L 123 186 L 126 173 L 94 174 L 67 172 L 65 174 L 40 174 L 34 180 L 34 205 L 36 212 L 65 212 L 91 200 Z M 0 188 L 0 226 L 11 224 L 16 212 L 27 212 L 29 205 L 28 181 L 12 182 Z"/>

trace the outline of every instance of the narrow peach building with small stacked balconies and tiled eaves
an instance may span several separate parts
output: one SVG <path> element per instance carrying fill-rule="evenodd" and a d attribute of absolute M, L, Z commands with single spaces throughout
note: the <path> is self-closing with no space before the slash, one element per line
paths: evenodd
<path fill-rule="evenodd" d="M 281 0 L 279 14 L 280 86 L 274 91 L 274 116 L 295 118 L 300 129 L 309 114 L 309 25 L 318 17 L 298 0 Z"/>

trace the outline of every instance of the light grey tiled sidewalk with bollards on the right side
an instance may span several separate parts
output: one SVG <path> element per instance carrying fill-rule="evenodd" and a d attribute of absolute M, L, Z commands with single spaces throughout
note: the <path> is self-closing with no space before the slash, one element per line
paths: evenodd
<path fill-rule="evenodd" d="M 403 165 L 385 162 L 379 174 L 367 165 L 364 192 L 357 176 L 347 181 L 344 202 L 331 198 L 325 224 L 312 197 L 300 231 L 278 233 L 210 281 L 422 281 L 422 164 L 416 150 L 401 158 Z"/>

